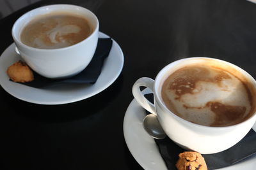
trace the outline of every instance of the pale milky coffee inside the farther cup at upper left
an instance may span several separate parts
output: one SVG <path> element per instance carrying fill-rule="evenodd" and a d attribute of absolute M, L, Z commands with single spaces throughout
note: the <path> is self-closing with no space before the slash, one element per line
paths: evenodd
<path fill-rule="evenodd" d="M 83 41 L 92 31 L 84 17 L 51 13 L 31 20 L 22 30 L 20 41 L 35 48 L 63 48 Z"/>

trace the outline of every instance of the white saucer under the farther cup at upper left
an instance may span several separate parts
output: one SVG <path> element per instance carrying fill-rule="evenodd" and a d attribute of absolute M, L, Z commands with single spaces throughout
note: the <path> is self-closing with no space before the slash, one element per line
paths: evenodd
<path fill-rule="evenodd" d="M 99 38 L 109 38 L 99 32 Z M 120 46 L 113 40 L 109 56 L 104 60 L 102 71 L 93 85 L 60 85 L 45 89 L 36 89 L 9 80 L 6 70 L 8 66 L 20 59 L 15 53 L 15 44 L 10 45 L 0 57 L 0 85 L 6 92 L 20 100 L 37 104 L 65 104 L 94 96 L 111 85 L 122 71 L 124 54 Z"/>

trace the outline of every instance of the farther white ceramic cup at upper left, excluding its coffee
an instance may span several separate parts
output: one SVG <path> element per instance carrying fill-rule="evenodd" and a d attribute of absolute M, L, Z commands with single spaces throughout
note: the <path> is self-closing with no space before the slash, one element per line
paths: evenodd
<path fill-rule="evenodd" d="M 85 17 L 93 27 L 92 34 L 75 45 L 57 49 L 39 49 L 20 41 L 22 29 L 31 20 L 55 12 L 74 13 Z M 22 15 L 12 27 L 12 36 L 22 59 L 38 74 L 47 78 L 65 78 L 77 74 L 92 60 L 99 37 L 99 21 L 92 11 L 81 6 L 54 4 L 42 6 Z"/>

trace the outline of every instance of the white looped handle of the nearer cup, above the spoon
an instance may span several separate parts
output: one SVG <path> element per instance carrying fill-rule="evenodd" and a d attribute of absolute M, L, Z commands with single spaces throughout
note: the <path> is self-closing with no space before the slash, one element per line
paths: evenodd
<path fill-rule="evenodd" d="M 138 103 L 143 108 L 145 108 L 145 110 L 156 115 L 156 109 L 155 109 L 154 104 L 150 103 L 150 101 L 148 101 L 148 99 L 145 98 L 145 96 L 141 93 L 141 90 L 140 90 L 140 87 L 148 87 L 153 92 L 154 91 L 153 90 L 154 82 L 155 82 L 154 80 L 152 80 L 151 78 L 147 78 L 147 77 L 142 77 L 142 78 L 138 79 L 132 87 L 132 94 L 133 94 L 134 98 L 136 99 L 136 101 L 138 101 Z"/>

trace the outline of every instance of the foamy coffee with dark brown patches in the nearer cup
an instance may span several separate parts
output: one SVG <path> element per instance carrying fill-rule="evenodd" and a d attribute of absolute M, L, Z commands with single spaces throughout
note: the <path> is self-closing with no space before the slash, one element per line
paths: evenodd
<path fill-rule="evenodd" d="M 250 87 L 246 78 L 231 70 L 206 63 L 191 64 L 168 76 L 161 96 L 168 109 L 179 117 L 221 127 L 243 122 L 253 114 Z"/>

